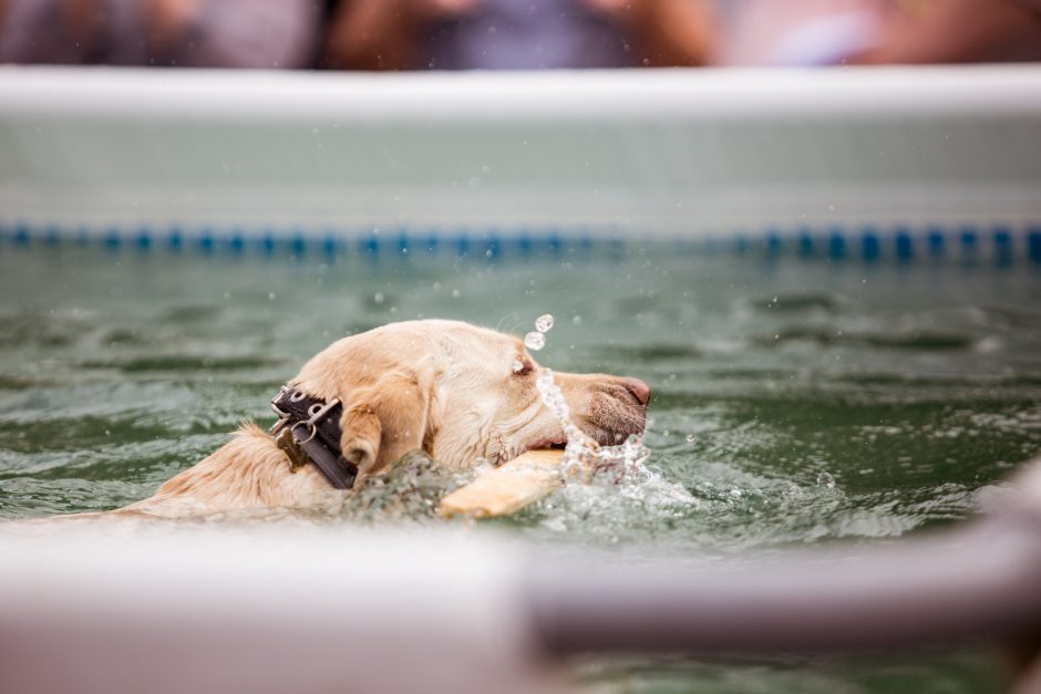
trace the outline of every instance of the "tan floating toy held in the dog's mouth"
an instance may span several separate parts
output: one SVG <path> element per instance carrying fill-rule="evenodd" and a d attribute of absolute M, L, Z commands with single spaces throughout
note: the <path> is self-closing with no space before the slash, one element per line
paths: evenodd
<path fill-rule="evenodd" d="M 528 450 L 441 500 L 442 516 L 506 516 L 560 486 L 564 450 Z"/>

